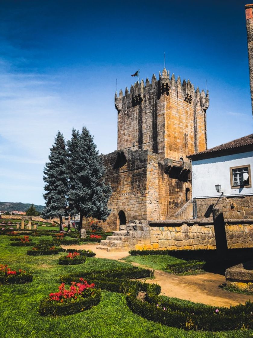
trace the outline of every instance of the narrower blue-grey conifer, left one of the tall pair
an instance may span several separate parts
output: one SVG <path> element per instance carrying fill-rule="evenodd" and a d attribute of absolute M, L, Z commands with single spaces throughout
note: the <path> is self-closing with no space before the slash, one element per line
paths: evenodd
<path fill-rule="evenodd" d="M 58 131 L 50 148 L 49 162 L 44 168 L 44 218 L 60 218 L 60 231 L 64 230 L 62 217 L 66 215 L 68 193 L 67 151 L 63 135 Z"/>

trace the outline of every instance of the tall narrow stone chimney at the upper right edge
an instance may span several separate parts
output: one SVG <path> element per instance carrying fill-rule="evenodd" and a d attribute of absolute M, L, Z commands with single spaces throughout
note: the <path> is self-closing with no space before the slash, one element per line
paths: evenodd
<path fill-rule="evenodd" d="M 245 14 L 248 36 L 251 107 L 253 115 L 253 4 L 245 5 Z"/>

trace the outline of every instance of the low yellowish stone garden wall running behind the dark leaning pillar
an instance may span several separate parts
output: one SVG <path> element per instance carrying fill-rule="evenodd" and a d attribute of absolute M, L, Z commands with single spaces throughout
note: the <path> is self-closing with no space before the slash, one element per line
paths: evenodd
<path fill-rule="evenodd" d="M 138 222 L 138 221 L 137 221 Z M 141 221 L 145 223 L 145 221 Z M 253 222 L 225 220 L 228 248 L 253 247 Z M 137 225 L 138 226 L 138 225 Z M 130 248 L 135 250 L 216 249 L 214 226 L 203 220 L 149 222 L 149 237 L 136 231 Z"/>

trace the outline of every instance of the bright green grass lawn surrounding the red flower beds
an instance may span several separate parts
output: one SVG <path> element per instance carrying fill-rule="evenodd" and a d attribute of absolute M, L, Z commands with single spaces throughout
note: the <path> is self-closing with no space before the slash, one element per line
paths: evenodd
<path fill-rule="evenodd" d="M 40 239 L 35 238 L 35 241 Z M 69 316 L 42 317 L 38 314 L 39 302 L 50 292 L 57 291 L 60 284 L 59 275 L 77 271 L 110 270 L 116 266 L 125 266 L 126 263 L 87 258 L 86 263 L 82 265 L 60 266 L 57 264 L 59 255 L 33 257 L 27 256 L 26 250 L 25 247 L 11 247 L 9 237 L 0 236 L 0 263 L 8 264 L 11 268 L 33 271 L 32 283 L 0 286 L 1 338 L 247 338 L 253 336 L 253 331 L 208 333 L 168 328 L 133 314 L 126 305 L 125 295 L 107 291 L 102 292 L 101 303 L 90 310 Z M 155 257 L 152 259 L 154 261 Z M 170 259 L 176 260 L 176 258 Z M 156 261 L 156 264 L 161 262 Z"/>

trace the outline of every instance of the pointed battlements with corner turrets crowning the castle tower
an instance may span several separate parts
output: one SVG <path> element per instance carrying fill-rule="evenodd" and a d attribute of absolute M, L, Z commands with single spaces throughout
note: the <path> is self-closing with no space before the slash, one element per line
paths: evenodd
<path fill-rule="evenodd" d="M 159 100 L 162 95 L 170 95 L 171 91 L 177 93 L 177 96 L 180 97 L 185 102 L 192 104 L 194 101 L 200 103 L 202 109 L 204 111 L 207 110 L 209 106 L 209 92 L 205 93 L 204 90 L 200 92 L 199 87 L 197 87 L 196 91 L 194 88 L 194 84 L 188 79 L 184 79 L 181 83 L 180 76 L 178 76 L 177 80 L 175 79 L 175 75 L 172 74 L 170 78 L 170 73 L 163 69 L 162 74 L 159 72 L 159 80 L 156 79 L 155 74 L 152 76 L 151 83 L 149 79 L 146 79 L 144 84 L 144 80 L 134 83 L 134 86 L 131 85 L 130 92 L 128 88 L 125 89 L 125 95 L 123 95 L 123 91 L 120 90 L 119 96 L 117 96 L 117 92 L 115 93 L 115 108 L 118 113 L 122 110 L 123 102 L 131 100 L 132 106 L 136 106 L 141 104 L 148 94 L 154 92 L 157 94 L 157 99 Z"/>

